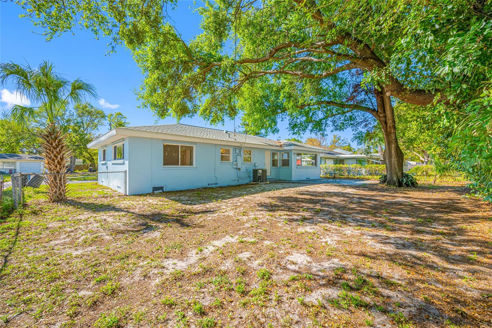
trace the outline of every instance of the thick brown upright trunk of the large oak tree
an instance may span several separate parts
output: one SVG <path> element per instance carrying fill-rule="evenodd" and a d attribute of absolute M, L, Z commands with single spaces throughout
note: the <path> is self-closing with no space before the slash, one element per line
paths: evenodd
<path fill-rule="evenodd" d="M 386 165 L 386 174 L 388 176 L 386 185 L 402 187 L 403 152 L 398 144 L 393 104 L 391 103 L 390 96 L 384 92 L 383 87 L 380 87 L 380 90 L 374 88 L 374 95 L 377 103 L 376 118 L 381 126 L 384 137 L 383 161 Z"/>

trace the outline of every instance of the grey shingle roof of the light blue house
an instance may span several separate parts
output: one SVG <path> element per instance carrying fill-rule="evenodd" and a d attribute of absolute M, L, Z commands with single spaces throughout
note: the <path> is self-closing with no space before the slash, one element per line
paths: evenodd
<path fill-rule="evenodd" d="M 125 127 L 123 129 L 184 135 L 190 137 L 199 137 L 199 138 L 215 139 L 215 140 L 222 140 L 222 141 L 236 141 L 242 143 L 268 145 L 268 146 L 275 146 L 275 147 L 298 146 L 298 147 L 321 150 L 321 148 L 318 147 L 314 147 L 304 143 L 294 142 L 290 140 L 277 141 L 277 140 L 263 138 L 246 133 L 239 133 L 239 132 L 234 133 L 234 131 L 202 128 L 202 127 L 195 127 L 192 125 L 185 125 L 185 124 L 147 125 L 147 126 L 139 126 L 139 127 Z"/>

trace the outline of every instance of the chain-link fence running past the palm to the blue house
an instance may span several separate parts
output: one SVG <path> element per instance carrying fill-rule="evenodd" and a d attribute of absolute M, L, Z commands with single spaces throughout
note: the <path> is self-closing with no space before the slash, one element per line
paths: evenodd
<path fill-rule="evenodd" d="M 12 188 L 14 206 L 30 199 L 45 199 L 51 181 L 64 181 L 68 199 L 126 195 L 126 171 L 91 173 L 14 173 L 5 190 Z M 8 185 L 7 185 L 8 184 Z"/>

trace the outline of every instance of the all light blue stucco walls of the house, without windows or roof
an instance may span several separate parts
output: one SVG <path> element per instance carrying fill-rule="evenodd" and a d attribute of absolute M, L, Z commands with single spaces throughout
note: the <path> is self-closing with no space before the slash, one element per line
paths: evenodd
<path fill-rule="evenodd" d="M 123 160 L 113 159 L 113 147 L 123 141 Z M 163 144 L 193 146 L 193 165 L 164 166 Z M 102 162 L 102 150 L 106 148 L 106 161 Z M 220 148 L 231 149 L 231 161 L 220 161 Z M 251 150 L 251 162 L 243 162 L 243 150 Z M 265 158 L 265 151 L 270 153 Z M 272 150 L 267 148 L 242 147 L 182 142 L 149 137 L 125 137 L 122 140 L 99 148 L 99 172 L 127 170 L 126 192 L 128 195 L 138 195 L 153 192 L 162 188 L 163 191 L 195 189 L 203 187 L 233 186 L 249 183 L 253 178 L 253 168 L 265 168 L 266 163 L 272 165 L 272 152 L 278 152 L 277 167 L 271 166 L 268 178 L 279 180 L 305 180 L 319 178 L 320 157 L 316 154 L 316 166 L 296 166 L 295 150 Z M 281 166 L 281 153 L 289 153 L 289 166 Z M 267 153 L 268 154 L 268 153 Z M 267 162 L 265 162 L 267 161 Z M 237 168 L 233 163 L 237 162 Z M 112 187 L 114 181 L 108 182 L 111 175 L 100 174 L 99 183 Z M 104 180 L 106 178 L 106 180 Z"/>

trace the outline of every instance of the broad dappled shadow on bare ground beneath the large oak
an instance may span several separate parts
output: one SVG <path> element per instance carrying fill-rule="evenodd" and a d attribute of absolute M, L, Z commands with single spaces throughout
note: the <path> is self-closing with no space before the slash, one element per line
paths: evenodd
<path fill-rule="evenodd" d="M 422 197 L 422 192 L 428 192 L 429 197 Z M 435 193 L 439 197 L 434 197 Z M 417 272 L 406 276 L 405 286 L 411 289 L 418 286 L 421 293 L 425 293 L 422 286 L 427 284 L 446 291 L 447 306 L 454 306 L 463 323 L 475 325 L 476 319 L 465 309 L 470 301 L 474 304 L 487 302 L 482 295 L 491 295 L 492 287 L 481 284 L 468 291 L 465 287 L 461 292 L 465 292 L 466 297 L 454 291 L 463 289 L 456 281 L 467 275 L 485 282 L 492 274 L 487 260 L 490 241 L 469 228 L 487 220 L 479 209 L 489 207 L 460 196 L 453 187 L 394 189 L 352 185 L 339 190 L 302 189 L 294 195 L 270 195 L 255 205 L 268 212 L 286 213 L 282 219 L 289 225 L 299 223 L 299 230 L 305 227 L 309 231 L 309 226 L 322 224 L 327 230 L 325 234 L 334 238 L 337 247 L 344 248 L 343 258 L 351 262 L 382 261 Z M 470 257 L 472 254 L 481 260 Z M 391 275 L 396 272 L 366 274 L 380 281 L 379 286 L 387 295 L 411 300 L 411 304 L 419 306 L 413 310 L 447 317 L 443 308 L 435 305 L 439 304 L 437 297 L 437 302 L 430 304 L 423 301 L 424 296 L 395 287 L 398 285 L 393 286 L 393 290 L 385 287 L 384 282 L 391 281 Z M 432 272 L 443 275 L 434 277 Z M 397 301 L 398 297 L 390 298 Z"/>

